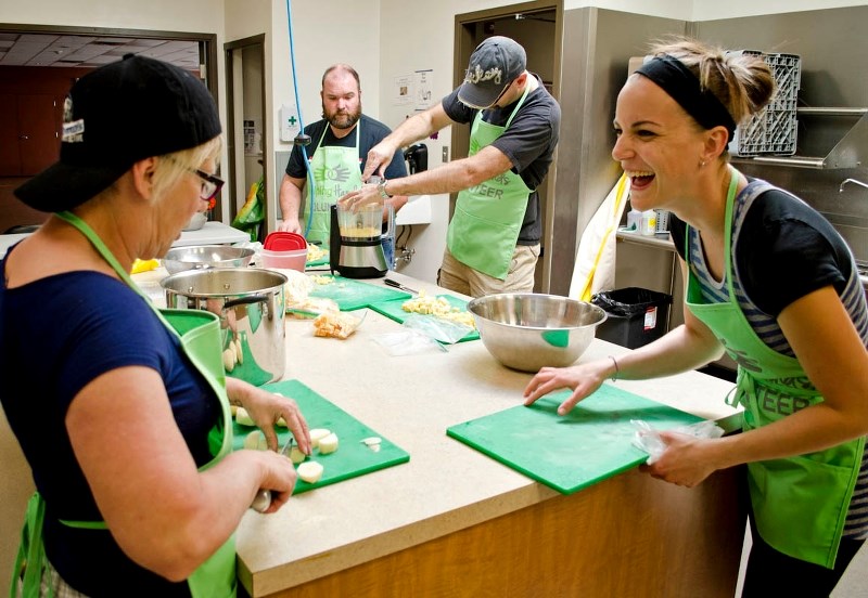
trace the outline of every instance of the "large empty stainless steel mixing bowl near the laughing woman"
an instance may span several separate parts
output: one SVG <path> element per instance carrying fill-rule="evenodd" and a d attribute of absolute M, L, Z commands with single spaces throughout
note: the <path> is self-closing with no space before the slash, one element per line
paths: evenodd
<path fill-rule="evenodd" d="M 485 348 L 501 364 L 522 372 L 575 362 L 593 340 L 605 311 L 558 295 L 506 292 L 468 303 Z"/>

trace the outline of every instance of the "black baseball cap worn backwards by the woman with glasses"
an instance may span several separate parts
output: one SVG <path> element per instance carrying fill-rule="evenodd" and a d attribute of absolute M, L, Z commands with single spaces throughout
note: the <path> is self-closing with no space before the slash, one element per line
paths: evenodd
<path fill-rule="evenodd" d="M 192 73 L 128 54 L 75 82 L 63 109 L 61 159 L 15 190 L 56 212 L 84 204 L 133 164 L 220 134 L 214 99 Z"/>

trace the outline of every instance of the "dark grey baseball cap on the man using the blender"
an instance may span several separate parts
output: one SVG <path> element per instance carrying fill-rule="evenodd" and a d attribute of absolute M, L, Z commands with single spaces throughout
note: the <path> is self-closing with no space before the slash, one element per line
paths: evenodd
<path fill-rule="evenodd" d="M 526 66 L 527 55 L 519 42 L 503 36 L 489 37 L 471 54 L 458 99 L 471 108 L 487 108 Z"/>

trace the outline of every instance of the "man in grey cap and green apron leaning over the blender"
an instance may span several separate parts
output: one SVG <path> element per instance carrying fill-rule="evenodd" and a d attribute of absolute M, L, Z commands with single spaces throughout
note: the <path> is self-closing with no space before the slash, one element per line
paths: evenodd
<path fill-rule="evenodd" d="M 393 195 L 458 193 L 437 283 L 464 295 L 534 289 L 542 234 L 536 188 L 558 145 L 561 108 L 526 68 L 515 40 L 485 39 L 458 89 L 371 148 L 362 180 L 382 177 L 396 150 L 459 122 L 472 123 L 468 157 L 341 198 L 355 207 Z"/>

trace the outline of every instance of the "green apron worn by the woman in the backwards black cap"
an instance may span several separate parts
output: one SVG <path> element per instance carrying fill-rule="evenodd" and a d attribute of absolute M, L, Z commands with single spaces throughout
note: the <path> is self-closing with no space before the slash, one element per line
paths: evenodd
<path fill-rule="evenodd" d="M 100 255 L 132 289 L 142 295 L 161 322 L 175 334 L 183 353 L 207 380 L 219 401 L 221 417 L 208 433 L 208 447 L 214 458 L 200 467 L 203 471 L 222 459 L 232 451 L 232 426 L 229 400 L 226 394 L 226 372 L 220 352 L 219 318 L 203 310 L 158 310 L 132 282 L 107 247 L 84 220 L 72 212 L 56 214 L 78 229 L 93 244 Z M 22 531 L 22 543 L 15 560 L 11 596 L 16 596 L 17 582 L 23 580 L 23 598 L 38 597 L 44 569 L 44 547 L 42 545 L 42 521 L 44 499 L 37 492 L 27 504 L 27 514 Z M 71 528 L 107 530 L 103 521 L 64 521 Z M 22 576 L 22 571 L 24 572 Z M 230 598 L 235 596 L 235 541 L 230 536 L 226 543 L 202 563 L 187 580 L 193 598 Z M 123 594 L 123 590 L 118 589 Z"/>

